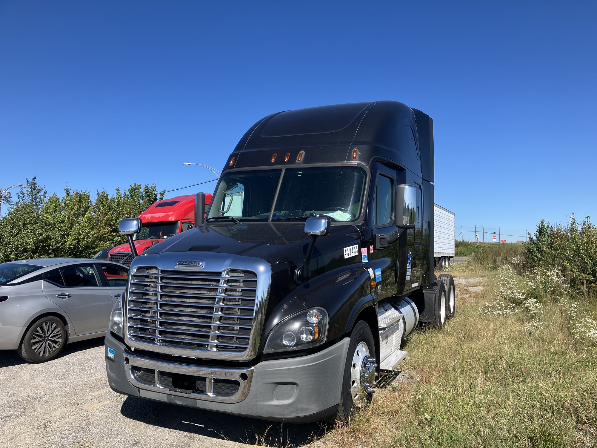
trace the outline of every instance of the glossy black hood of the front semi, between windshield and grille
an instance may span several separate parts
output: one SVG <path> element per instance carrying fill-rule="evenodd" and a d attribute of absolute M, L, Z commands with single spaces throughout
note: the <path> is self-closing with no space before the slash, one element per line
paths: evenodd
<path fill-rule="evenodd" d="M 247 223 L 247 224 L 208 224 L 170 237 L 143 254 L 165 252 L 186 253 L 193 258 L 196 252 L 228 253 L 266 260 L 272 271 L 291 268 L 302 264 L 310 235 L 304 233 L 304 223 Z M 353 225 L 331 225 L 330 232 L 319 237 L 313 250 L 314 268 L 330 269 L 330 263 L 344 261 L 344 247 L 361 242 L 361 232 Z M 337 253 L 336 253 L 337 252 Z M 325 254 L 333 253 L 327 257 Z M 196 256 L 201 257 L 200 253 Z M 360 260 L 360 246 L 358 260 Z M 346 262 L 355 262 L 356 256 Z"/>

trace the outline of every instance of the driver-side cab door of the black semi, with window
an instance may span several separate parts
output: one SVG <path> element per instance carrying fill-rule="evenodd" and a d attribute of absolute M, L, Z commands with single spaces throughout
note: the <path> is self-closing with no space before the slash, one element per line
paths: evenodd
<path fill-rule="evenodd" d="M 368 221 L 373 231 L 373 244 L 367 248 L 366 269 L 372 269 L 377 299 L 396 294 L 396 262 L 398 241 L 387 243 L 396 236 L 396 171 L 381 163 L 374 165 L 372 174 Z"/>

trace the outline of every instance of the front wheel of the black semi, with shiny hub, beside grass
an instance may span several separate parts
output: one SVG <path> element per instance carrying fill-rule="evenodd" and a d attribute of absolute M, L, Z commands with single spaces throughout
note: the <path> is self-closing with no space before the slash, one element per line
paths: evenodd
<path fill-rule="evenodd" d="M 375 342 L 371 329 L 359 320 L 350 334 L 338 406 L 340 421 L 346 422 L 362 404 L 371 403 L 376 376 Z"/>

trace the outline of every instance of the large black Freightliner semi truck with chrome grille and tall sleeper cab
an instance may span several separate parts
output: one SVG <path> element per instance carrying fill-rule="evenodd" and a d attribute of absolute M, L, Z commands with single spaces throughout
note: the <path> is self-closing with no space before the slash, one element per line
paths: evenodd
<path fill-rule="evenodd" d="M 273 113 L 227 158 L 207 216 L 197 196 L 196 228 L 131 263 L 105 343 L 116 392 L 347 419 L 418 323 L 454 314 L 453 278 L 433 271 L 433 122 L 417 109 Z"/>

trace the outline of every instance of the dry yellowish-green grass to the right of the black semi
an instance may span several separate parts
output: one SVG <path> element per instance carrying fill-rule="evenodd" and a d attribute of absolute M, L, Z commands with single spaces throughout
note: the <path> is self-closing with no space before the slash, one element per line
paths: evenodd
<path fill-rule="evenodd" d="M 531 335 L 521 310 L 479 314 L 495 297 L 494 272 L 472 266 L 453 274 L 456 316 L 441 332 L 410 335 L 401 375 L 324 444 L 596 446 L 597 353 L 574 342 L 561 306 L 546 306 L 546 325 Z"/>

